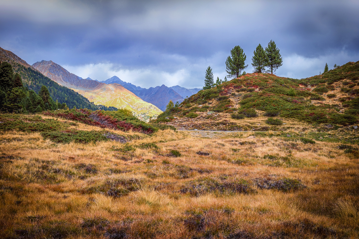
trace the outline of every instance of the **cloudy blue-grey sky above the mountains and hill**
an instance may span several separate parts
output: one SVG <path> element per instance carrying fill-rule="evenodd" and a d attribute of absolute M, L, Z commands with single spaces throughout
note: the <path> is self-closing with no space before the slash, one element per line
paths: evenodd
<path fill-rule="evenodd" d="M 208 66 L 224 79 L 234 46 L 251 73 L 253 51 L 274 40 L 275 74 L 300 79 L 359 61 L 358 13 L 358 0 L 0 0 L 0 47 L 82 78 L 202 88 Z"/>

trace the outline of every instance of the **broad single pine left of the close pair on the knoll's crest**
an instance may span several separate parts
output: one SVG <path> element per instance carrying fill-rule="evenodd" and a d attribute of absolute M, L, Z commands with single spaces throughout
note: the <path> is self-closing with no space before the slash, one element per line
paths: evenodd
<path fill-rule="evenodd" d="M 230 56 L 225 61 L 226 71 L 229 77 L 237 77 L 241 75 L 242 70 L 247 68 L 248 65 L 244 65 L 247 57 L 244 54 L 243 49 L 240 46 L 235 46 L 230 50 Z"/>

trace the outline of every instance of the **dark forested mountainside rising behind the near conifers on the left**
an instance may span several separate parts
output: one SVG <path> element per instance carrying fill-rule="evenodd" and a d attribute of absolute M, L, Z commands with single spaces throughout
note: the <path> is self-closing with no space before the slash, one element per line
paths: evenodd
<path fill-rule="evenodd" d="M 41 86 L 44 85 L 50 92 L 50 96 L 53 100 L 58 100 L 60 103 L 66 103 L 70 108 L 88 108 L 91 110 L 99 109 L 98 106 L 91 103 L 85 97 L 79 95 L 77 92 L 61 86 L 50 78 L 42 75 L 41 72 L 30 66 L 23 59 L 15 55 L 14 53 L 4 50 L 0 47 L 0 61 L 6 61 L 11 64 L 15 73 L 19 73 L 24 86 L 29 90 L 39 92 Z M 102 109 L 108 109 L 102 107 Z"/>

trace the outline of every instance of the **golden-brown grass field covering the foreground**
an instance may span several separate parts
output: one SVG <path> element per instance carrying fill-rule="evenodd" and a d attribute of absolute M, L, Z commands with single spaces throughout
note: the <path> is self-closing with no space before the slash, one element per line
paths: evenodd
<path fill-rule="evenodd" d="M 300 125 L 285 134 L 316 131 Z M 358 151 L 253 133 L 1 132 L 0 238 L 359 238 Z"/>

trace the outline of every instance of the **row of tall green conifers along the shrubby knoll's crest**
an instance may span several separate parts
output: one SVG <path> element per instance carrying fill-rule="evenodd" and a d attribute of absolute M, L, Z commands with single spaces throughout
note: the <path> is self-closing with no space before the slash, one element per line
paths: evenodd
<path fill-rule="evenodd" d="M 268 46 L 264 49 L 261 44 L 258 44 L 256 50 L 253 52 L 254 56 L 252 57 L 252 66 L 254 68 L 254 72 L 264 73 L 271 72 L 277 70 L 280 66 L 283 65 L 283 59 L 279 53 L 279 49 L 277 48 L 275 42 L 270 40 Z M 228 56 L 225 61 L 226 72 L 228 73 L 228 77 L 238 78 L 241 75 L 245 75 L 245 68 L 248 67 L 248 64 L 245 64 L 247 59 L 246 54 L 240 46 L 235 46 L 230 51 L 230 56 Z M 266 70 L 268 68 L 268 70 Z M 242 73 L 243 71 L 243 73 Z M 227 76 L 225 80 L 220 80 L 217 77 L 216 82 L 214 82 L 212 68 L 209 66 L 206 70 L 205 74 L 205 85 L 203 90 L 211 89 L 212 87 L 218 86 L 223 82 L 227 81 Z"/>

